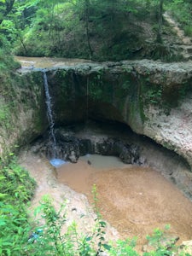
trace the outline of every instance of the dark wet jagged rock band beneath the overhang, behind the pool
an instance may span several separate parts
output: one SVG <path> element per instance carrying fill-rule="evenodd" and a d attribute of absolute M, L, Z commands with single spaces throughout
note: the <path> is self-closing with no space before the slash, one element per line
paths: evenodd
<path fill-rule="evenodd" d="M 56 158 L 77 163 L 79 156 L 85 154 L 102 154 L 118 156 L 125 164 L 142 164 L 139 147 L 123 142 L 118 137 L 77 137 L 72 131 L 63 128 L 55 131 Z M 49 136 L 41 139 L 33 146 L 34 153 L 44 154 L 48 159 L 52 155 L 52 142 Z"/>

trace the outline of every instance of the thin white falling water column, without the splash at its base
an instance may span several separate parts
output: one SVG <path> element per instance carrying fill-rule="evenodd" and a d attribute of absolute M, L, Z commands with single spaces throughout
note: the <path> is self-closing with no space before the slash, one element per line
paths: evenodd
<path fill-rule="evenodd" d="M 56 157 L 56 138 L 55 138 L 55 131 L 54 131 L 54 118 L 53 118 L 53 112 L 52 112 L 52 103 L 51 103 L 51 97 L 49 94 L 49 84 L 47 80 L 47 74 L 44 71 L 44 92 L 46 97 L 46 105 L 47 105 L 47 117 L 49 121 L 49 134 L 52 141 L 52 156 L 55 159 Z"/>

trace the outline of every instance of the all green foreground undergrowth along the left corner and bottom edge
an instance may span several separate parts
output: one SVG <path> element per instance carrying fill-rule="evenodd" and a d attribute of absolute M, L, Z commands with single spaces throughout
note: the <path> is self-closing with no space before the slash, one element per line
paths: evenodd
<path fill-rule="evenodd" d="M 44 196 L 32 218 L 28 215 L 30 199 L 34 193 L 35 182 L 28 172 L 20 167 L 15 159 L 9 165 L 1 162 L 0 169 L 0 255 L 1 256 L 96 256 L 103 252 L 108 256 L 138 256 L 135 246 L 137 238 L 106 242 L 107 225 L 97 207 L 96 187 L 93 187 L 95 227 L 90 233 L 81 234 L 75 223 L 67 226 L 65 202 L 56 211 L 53 201 Z M 36 219 L 36 220 L 34 220 Z M 143 256 L 180 255 L 189 256 L 172 243 L 161 243 L 165 232 L 154 230 L 147 236 L 154 247 Z"/>

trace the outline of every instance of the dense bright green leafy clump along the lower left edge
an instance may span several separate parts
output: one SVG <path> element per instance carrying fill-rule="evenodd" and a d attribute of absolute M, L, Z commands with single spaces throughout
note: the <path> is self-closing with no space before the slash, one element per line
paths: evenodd
<path fill-rule="evenodd" d="M 26 204 L 34 193 L 35 181 L 10 157 L 6 164 L 0 162 L 0 255 L 22 255 L 31 228 Z"/>

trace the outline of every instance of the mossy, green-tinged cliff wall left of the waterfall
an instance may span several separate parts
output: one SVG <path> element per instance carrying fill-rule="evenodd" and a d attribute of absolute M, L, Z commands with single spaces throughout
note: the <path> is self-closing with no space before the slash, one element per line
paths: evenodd
<path fill-rule="evenodd" d="M 44 131 L 41 73 L 4 76 L 0 84 L 0 159 Z"/>

